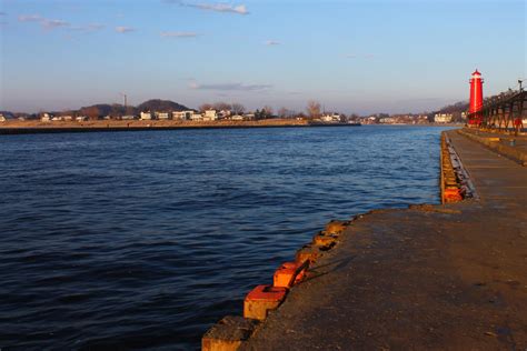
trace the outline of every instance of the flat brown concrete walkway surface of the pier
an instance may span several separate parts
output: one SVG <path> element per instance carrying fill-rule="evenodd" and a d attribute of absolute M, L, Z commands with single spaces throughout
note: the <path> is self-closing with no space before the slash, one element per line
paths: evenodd
<path fill-rule="evenodd" d="M 527 168 L 448 136 L 480 199 L 354 221 L 242 350 L 527 348 Z"/>

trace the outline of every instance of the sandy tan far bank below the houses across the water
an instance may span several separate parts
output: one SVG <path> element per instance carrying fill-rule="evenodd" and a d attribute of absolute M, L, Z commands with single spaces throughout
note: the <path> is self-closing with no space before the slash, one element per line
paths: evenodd
<path fill-rule="evenodd" d="M 371 124 L 390 126 L 390 124 Z M 399 127 L 459 127 L 459 124 L 397 124 Z M 306 120 L 272 119 L 260 121 L 126 121 L 99 120 L 86 122 L 40 122 L 40 121 L 7 121 L 0 123 L 0 134 L 38 134 L 38 133 L 79 133 L 79 132 L 123 132 L 123 131 L 157 131 L 178 129 L 248 129 L 248 128 L 309 128 L 309 127 L 358 127 L 348 123 L 320 123 Z"/>

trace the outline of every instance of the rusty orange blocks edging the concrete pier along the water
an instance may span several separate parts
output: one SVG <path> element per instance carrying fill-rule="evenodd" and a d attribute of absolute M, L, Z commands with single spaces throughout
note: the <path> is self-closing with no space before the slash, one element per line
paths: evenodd
<path fill-rule="evenodd" d="M 458 132 L 465 133 L 460 130 Z M 439 152 L 441 203 L 477 199 L 468 172 L 464 168 L 450 138 L 445 132 L 440 137 Z M 425 205 L 422 208 L 429 211 L 431 207 Z M 201 350 L 235 351 L 247 347 L 251 335 L 261 328 L 260 324 L 265 322 L 267 317 L 285 302 L 289 291 L 295 285 L 301 284 L 305 280 L 317 278 L 317 261 L 341 242 L 342 237 L 349 233 L 346 229 L 351 227 L 355 220 L 379 212 L 382 212 L 382 210 L 358 214 L 347 221 L 330 221 L 324 230 L 312 237 L 311 242 L 296 252 L 294 261 L 285 262 L 277 268 L 271 284 L 257 285 L 246 295 L 242 317 L 227 315 L 212 325 L 201 339 Z"/>

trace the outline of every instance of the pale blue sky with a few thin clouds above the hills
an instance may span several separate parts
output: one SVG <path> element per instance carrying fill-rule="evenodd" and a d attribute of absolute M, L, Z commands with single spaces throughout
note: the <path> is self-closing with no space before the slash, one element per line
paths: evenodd
<path fill-rule="evenodd" d="M 0 0 L 0 110 L 168 99 L 407 113 L 526 74 L 525 0 Z"/>

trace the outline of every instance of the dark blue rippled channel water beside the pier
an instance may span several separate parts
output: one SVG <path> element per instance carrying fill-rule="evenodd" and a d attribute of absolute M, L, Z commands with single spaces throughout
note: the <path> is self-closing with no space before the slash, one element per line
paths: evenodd
<path fill-rule="evenodd" d="M 438 202 L 439 128 L 0 138 L 0 349 L 196 349 L 334 218 Z"/>

